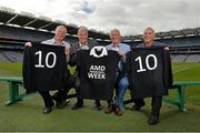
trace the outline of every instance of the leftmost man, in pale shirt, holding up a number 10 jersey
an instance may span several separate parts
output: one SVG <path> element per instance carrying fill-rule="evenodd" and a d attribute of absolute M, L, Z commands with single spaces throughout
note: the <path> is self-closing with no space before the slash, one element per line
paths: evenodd
<path fill-rule="evenodd" d="M 66 38 L 66 33 L 67 33 L 67 28 L 64 25 L 58 25 L 54 31 L 54 37 L 53 39 L 47 40 L 47 41 L 42 41 L 42 44 L 48 44 L 48 45 L 61 45 L 66 48 L 66 54 L 69 54 L 69 49 L 70 49 L 70 44 L 66 41 L 63 41 L 63 39 Z M 32 47 L 31 42 L 27 42 L 24 44 L 26 47 Z M 40 91 L 39 92 L 41 94 L 41 96 L 43 98 L 43 102 L 44 102 L 44 109 L 43 109 L 43 114 L 48 114 L 51 112 L 52 106 L 54 105 L 54 102 L 49 93 L 49 91 Z M 59 91 L 58 94 L 61 94 L 62 91 Z M 59 98 L 59 96 L 58 96 Z M 61 100 L 61 99 L 57 99 L 57 106 L 58 108 L 63 108 L 63 105 L 68 102 L 67 100 Z"/>

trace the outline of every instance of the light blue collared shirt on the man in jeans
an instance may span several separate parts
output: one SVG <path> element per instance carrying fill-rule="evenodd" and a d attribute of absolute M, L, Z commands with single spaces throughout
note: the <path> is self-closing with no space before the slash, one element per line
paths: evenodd
<path fill-rule="evenodd" d="M 118 47 L 114 47 L 113 43 L 109 44 L 109 45 L 106 45 L 106 48 L 108 50 L 113 50 L 113 51 L 119 51 L 121 50 L 124 54 L 128 53 L 131 49 L 130 49 L 130 45 L 128 44 L 124 44 L 124 43 L 119 43 Z M 126 59 L 122 59 L 119 64 L 118 64 L 118 68 L 120 71 L 123 71 L 124 70 L 124 62 L 126 62 Z"/>

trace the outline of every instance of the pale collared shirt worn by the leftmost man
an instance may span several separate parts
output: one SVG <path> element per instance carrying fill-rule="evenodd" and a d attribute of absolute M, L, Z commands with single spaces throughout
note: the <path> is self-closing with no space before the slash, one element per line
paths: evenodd
<path fill-rule="evenodd" d="M 70 44 L 68 42 L 66 41 L 57 42 L 54 39 L 49 39 L 49 40 L 42 41 L 41 43 L 49 44 L 49 45 L 61 45 L 61 47 L 66 47 L 67 49 L 70 48 Z"/>

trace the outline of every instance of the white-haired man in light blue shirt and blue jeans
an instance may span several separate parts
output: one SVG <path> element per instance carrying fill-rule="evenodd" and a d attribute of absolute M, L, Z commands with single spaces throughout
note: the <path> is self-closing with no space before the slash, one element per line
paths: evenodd
<path fill-rule="evenodd" d="M 118 69 L 116 70 L 116 85 L 117 85 L 117 101 L 113 103 L 112 98 L 108 101 L 109 105 L 106 109 L 106 113 L 110 114 L 114 111 L 116 115 L 122 115 L 122 102 L 123 95 L 126 90 L 129 86 L 128 76 L 124 72 L 124 61 L 126 61 L 126 53 L 130 51 L 130 45 L 121 43 L 121 33 L 118 29 L 113 29 L 110 31 L 110 40 L 112 41 L 111 44 L 107 45 L 108 50 L 118 51 L 121 55 L 121 60 L 118 64 Z"/>

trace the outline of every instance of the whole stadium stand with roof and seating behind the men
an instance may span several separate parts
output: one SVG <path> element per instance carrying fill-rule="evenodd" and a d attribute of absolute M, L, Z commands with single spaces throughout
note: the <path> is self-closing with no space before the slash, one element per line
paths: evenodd
<path fill-rule="evenodd" d="M 24 42 L 52 38 L 53 30 L 59 24 L 68 27 L 64 41 L 70 44 L 78 41 L 76 24 L 52 21 L 47 17 L 37 18 L 29 12 L 17 13 L 13 9 L 0 7 L 0 61 L 22 61 Z M 94 29 L 89 30 L 89 39 L 101 45 L 110 43 L 108 33 Z M 200 62 L 200 28 L 157 32 L 156 39 L 170 47 L 172 61 Z M 142 42 L 142 34 L 123 37 L 122 42 L 134 47 Z"/>

